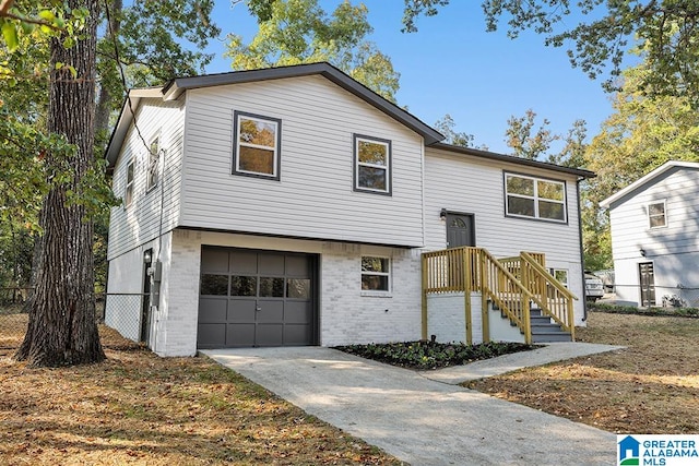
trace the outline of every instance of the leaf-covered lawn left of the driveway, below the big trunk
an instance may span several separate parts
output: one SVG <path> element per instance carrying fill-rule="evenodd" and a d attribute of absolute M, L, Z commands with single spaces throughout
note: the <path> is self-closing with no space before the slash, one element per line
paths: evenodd
<path fill-rule="evenodd" d="M 100 334 L 107 361 L 64 369 L 15 362 L 0 337 L 0 464 L 402 464 L 209 358 Z"/>

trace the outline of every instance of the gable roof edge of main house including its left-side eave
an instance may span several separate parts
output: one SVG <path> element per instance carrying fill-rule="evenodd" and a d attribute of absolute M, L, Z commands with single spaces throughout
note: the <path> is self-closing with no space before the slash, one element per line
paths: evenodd
<path fill-rule="evenodd" d="M 261 70 L 232 71 L 228 73 L 205 74 L 191 77 L 176 77 L 163 87 L 131 89 L 119 115 L 119 119 L 111 133 L 106 158 L 112 167 L 119 155 L 121 144 L 133 122 L 133 113 L 138 104 L 143 97 L 159 97 L 163 100 L 175 100 L 188 89 L 202 87 L 222 86 L 228 84 L 250 83 L 257 81 L 281 80 L 286 77 L 299 77 L 309 75 L 321 75 L 335 83 L 345 91 L 354 94 L 367 104 L 415 131 L 423 136 L 426 145 L 434 144 L 445 139 L 445 136 L 430 126 L 426 124 L 415 116 L 403 110 L 398 105 L 381 97 L 364 84 L 355 81 L 343 71 L 327 62 L 296 64 L 289 67 L 265 68 Z"/>

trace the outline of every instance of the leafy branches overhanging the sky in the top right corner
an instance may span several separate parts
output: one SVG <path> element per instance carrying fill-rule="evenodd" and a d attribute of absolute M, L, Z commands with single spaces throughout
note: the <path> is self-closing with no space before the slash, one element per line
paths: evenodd
<path fill-rule="evenodd" d="M 404 31 L 417 31 L 417 16 L 437 14 L 449 0 L 405 0 Z M 547 46 L 573 44 L 573 67 L 591 77 L 611 68 L 621 72 L 630 50 L 641 53 L 649 73 L 639 83 L 647 95 L 688 98 L 699 106 L 699 2 L 696 0 L 483 0 L 487 31 L 507 22 L 508 36 L 532 29 Z M 577 19 L 583 21 L 578 22 Z M 612 88 L 613 81 L 606 81 Z"/>

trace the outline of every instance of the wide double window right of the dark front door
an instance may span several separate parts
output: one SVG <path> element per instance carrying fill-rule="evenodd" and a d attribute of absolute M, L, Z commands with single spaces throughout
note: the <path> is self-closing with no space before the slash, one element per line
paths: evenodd
<path fill-rule="evenodd" d="M 566 183 L 505 174 L 506 215 L 566 222 Z"/>

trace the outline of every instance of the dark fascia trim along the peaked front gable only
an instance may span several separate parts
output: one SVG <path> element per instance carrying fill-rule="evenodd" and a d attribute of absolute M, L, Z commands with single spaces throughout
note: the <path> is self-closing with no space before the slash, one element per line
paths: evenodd
<path fill-rule="evenodd" d="M 182 92 L 193 88 L 240 84 L 256 81 L 282 80 L 285 77 L 299 77 L 312 74 L 320 74 L 321 76 L 327 77 L 340 87 L 348 91 L 389 117 L 403 123 L 422 135 L 425 139 L 425 144 L 427 145 L 445 139 L 445 136 L 434 128 L 425 124 L 418 118 L 381 97 L 364 84 L 358 83 L 337 68 L 327 62 L 265 68 L 262 70 L 234 71 L 230 73 L 208 74 L 203 76 L 177 77 L 165 85 L 163 88 L 163 98 L 165 100 L 176 99 Z"/>

